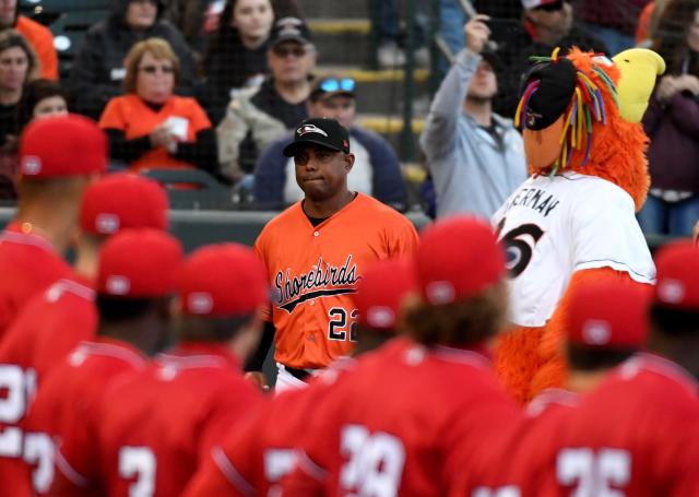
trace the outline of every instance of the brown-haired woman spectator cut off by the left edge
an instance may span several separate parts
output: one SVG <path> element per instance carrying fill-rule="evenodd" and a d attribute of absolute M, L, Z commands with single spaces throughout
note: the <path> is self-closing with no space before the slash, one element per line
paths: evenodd
<path fill-rule="evenodd" d="M 17 108 L 37 61 L 24 36 L 14 29 L 0 32 L 0 185 L 3 197 L 14 198 L 12 179 L 17 170 Z"/>

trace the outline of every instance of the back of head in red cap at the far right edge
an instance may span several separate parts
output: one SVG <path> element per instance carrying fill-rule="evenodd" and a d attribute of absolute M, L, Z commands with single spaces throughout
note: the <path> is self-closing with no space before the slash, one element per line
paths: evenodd
<path fill-rule="evenodd" d="M 666 245 L 655 257 L 651 333 L 699 343 L 699 248 L 690 241 Z"/>

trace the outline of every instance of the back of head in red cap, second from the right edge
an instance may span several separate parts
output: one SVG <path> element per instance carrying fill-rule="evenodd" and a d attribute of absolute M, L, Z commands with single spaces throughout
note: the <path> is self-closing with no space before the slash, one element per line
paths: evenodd
<path fill-rule="evenodd" d="M 650 286 L 614 277 L 572 287 L 565 327 L 571 368 L 607 369 L 645 348 L 650 294 Z"/>

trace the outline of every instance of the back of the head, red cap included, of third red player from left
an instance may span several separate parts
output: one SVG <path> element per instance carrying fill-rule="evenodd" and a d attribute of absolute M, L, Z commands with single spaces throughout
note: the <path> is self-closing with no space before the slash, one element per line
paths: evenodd
<path fill-rule="evenodd" d="M 123 229 L 99 252 L 97 309 L 102 323 L 132 321 L 175 293 L 182 247 L 153 228 Z"/>

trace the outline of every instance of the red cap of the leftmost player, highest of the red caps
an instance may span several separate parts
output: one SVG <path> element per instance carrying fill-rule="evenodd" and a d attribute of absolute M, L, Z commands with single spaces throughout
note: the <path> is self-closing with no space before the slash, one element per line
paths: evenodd
<path fill-rule="evenodd" d="M 92 119 L 75 114 L 32 121 L 20 139 L 20 174 L 59 178 L 104 173 L 107 137 Z"/>

